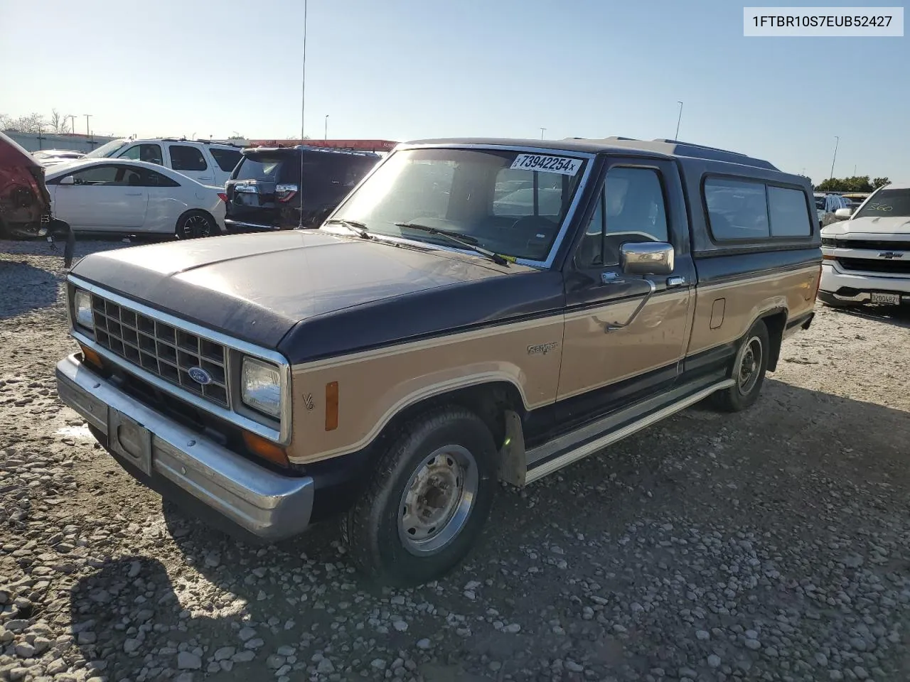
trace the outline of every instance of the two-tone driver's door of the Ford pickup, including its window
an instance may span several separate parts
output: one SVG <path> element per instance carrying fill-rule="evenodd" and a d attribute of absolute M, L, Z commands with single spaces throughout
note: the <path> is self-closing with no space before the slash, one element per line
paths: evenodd
<path fill-rule="evenodd" d="M 691 324 L 693 263 L 676 165 L 611 157 L 599 182 L 564 272 L 563 427 L 672 385 Z M 672 274 L 622 272 L 620 247 L 631 242 L 672 244 Z"/>

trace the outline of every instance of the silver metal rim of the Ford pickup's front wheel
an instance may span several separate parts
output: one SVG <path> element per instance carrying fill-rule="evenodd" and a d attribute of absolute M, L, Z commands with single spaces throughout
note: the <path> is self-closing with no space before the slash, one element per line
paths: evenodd
<path fill-rule="evenodd" d="M 468 522 L 477 495 L 477 463 L 462 446 L 444 446 L 424 458 L 399 503 L 399 537 L 414 555 L 446 547 Z"/>

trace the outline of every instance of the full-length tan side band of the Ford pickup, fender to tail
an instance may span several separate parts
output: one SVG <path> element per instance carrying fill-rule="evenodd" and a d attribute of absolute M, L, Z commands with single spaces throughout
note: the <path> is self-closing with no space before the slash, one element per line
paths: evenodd
<path fill-rule="evenodd" d="M 530 410 L 672 365 L 743 336 L 763 312 L 808 312 L 817 277 L 812 266 L 663 293 L 611 332 L 605 326 L 627 320 L 641 299 L 295 366 L 288 456 L 305 463 L 356 452 L 400 410 L 462 387 L 511 384 Z M 329 428 L 327 386 L 336 383 L 338 421 Z"/>

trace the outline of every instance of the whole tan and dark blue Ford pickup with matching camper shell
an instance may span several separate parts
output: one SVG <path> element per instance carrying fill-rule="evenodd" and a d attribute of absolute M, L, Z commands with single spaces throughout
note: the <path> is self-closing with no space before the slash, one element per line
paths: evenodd
<path fill-rule="evenodd" d="M 58 391 L 213 523 L 278 541 L 340 518 L 364 575 L 419 584 L 469 552 L 498 481 L 705 398 L 751 406 L 812 322 L 819 245 L 806 179 L 746 155 L 399 145 L 319 229 L 86 256 Z"/>

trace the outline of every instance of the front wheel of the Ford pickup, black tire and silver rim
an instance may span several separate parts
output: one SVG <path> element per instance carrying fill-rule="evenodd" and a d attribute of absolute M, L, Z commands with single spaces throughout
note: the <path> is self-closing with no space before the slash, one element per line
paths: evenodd
<path fill-rule="evenodd" d="M 495 489 L 490 429 L 462 407 L 435 408 L 404 426 L 343 519 L 350 557 L 383 585 L 442 577 L 480 535 Z"/>

